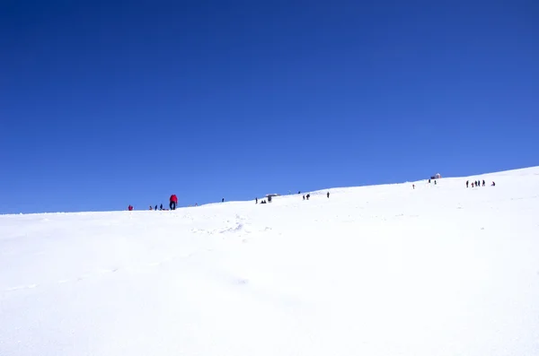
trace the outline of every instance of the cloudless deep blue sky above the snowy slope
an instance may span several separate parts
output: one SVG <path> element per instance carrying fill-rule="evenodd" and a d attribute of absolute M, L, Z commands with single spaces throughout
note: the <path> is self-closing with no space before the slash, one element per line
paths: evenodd
<path fill-rule="evenodd" d="M 3 1 L 0 213 L 539 165 L 531 1 Z"/>

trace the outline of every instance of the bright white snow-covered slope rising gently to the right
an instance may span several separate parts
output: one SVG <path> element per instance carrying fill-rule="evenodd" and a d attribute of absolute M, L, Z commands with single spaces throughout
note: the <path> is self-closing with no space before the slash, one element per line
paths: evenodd
<path fill-rule="evenodd" d="M 539 168 L 483 178 L 0 216 L 0 355 L 537 356 Z"/>

